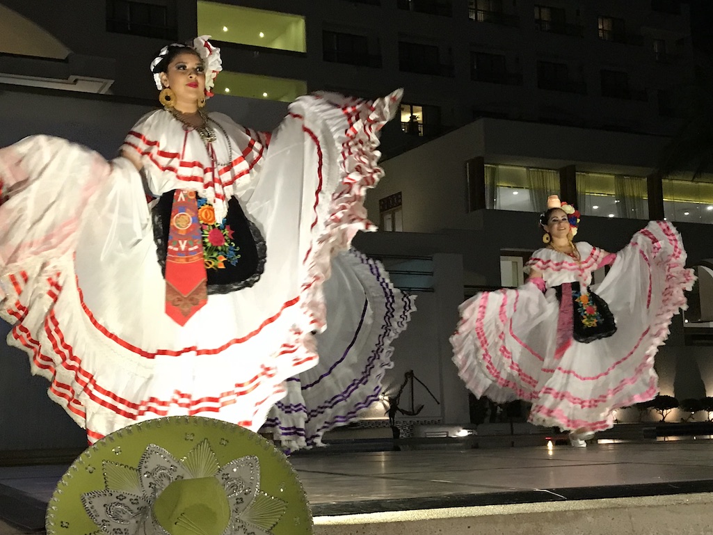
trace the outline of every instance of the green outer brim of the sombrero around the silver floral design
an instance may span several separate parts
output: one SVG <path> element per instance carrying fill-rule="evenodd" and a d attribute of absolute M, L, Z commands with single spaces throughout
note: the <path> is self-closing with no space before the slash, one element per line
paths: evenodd
<path fill-rule="evenodd" d="M 274 535 L 312 534 L 312 514 L 297 472 L 271 442 L 243 427 L 205 417 L 166 417 L 140 422 L 93 444 L 69 467 L 59 481 L 47 508 L 48 535 L 103 534 L 87 514 L 82 496 L 106 489 L 106 462 L 138 467 L 149 444 L 185 459 L 197 444 L 207 440 L 220 466 L 255 456 L 260 462 L 261 493 L 283 501 L 284 514 L 270 528 Z"/>

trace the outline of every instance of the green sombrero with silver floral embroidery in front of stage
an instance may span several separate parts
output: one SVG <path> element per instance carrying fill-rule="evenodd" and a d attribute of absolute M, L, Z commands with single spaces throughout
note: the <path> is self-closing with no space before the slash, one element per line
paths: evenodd
<path fill-rule="evenodd" d="M 242 427 L 203 417 L 134 424 L 69 467 L 48 535 L 309 535 L 312 514 L 287 457 Z"/>

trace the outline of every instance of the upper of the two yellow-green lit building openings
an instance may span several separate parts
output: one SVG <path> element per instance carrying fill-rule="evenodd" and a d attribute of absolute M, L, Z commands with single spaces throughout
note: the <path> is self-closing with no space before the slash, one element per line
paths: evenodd
<path fill-rule="evenodd" d="M 216 41 L 292 52 L 307 51 L 304 17 L 198 0 L 198 35 Z"/>

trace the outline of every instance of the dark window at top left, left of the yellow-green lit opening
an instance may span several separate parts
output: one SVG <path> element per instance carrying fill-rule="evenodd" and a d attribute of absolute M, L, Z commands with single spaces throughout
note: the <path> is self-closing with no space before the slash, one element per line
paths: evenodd
<path fill-rule="evenodd" d="M 175 0 L 107 0 L 106 31 L 178 39 Z"/>

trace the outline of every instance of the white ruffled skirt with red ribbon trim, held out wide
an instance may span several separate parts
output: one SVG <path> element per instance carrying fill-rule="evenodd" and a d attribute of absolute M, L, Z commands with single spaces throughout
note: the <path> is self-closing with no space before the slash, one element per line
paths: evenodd
<path fill-rule="evenodd" d="M 317 365 L 324 281 L 332 256 L 371 230 L 363 200 L 382 174 L 376 133 L 399 98 L 292 104 L 243 206 L 267 241 L 265 272 L 253 287 L 210 295 L 183 327 L 163 312 L 150 213 L 128 161 L 46 136 L 2 149 L 0 314 L 13 325 L 9 344 L 28 352 L 50 397 L 92 442 L 175 414 L 259 429 L 285 380 Z M 354 301 L 364 296 L 359 287 Z"/>

